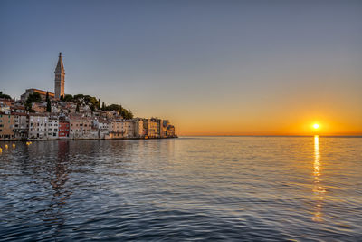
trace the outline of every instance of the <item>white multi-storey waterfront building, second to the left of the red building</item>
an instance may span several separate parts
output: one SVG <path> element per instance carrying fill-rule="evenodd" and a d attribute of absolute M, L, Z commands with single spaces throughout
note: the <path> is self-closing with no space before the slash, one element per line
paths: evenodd
<path fill-rule="evenodd" d="M 46 113 L 29 114 L 29 139 L 46 139 L 48 115 Z"/>

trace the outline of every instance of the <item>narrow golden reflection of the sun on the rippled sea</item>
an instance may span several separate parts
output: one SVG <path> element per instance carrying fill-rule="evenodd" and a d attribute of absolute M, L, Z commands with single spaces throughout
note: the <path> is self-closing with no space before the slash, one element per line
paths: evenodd
<path fill-rule="evenodd" d="M 322 205 L 323 200 L 325 198 L 326 190 L 323 189 L 321 184 L 322 179 L 320 179 L 321 175 L 321 164 L 320 164 L 320 153 L 319 153 L 319 136 L 314 136 L 314 163 L 313 163 L 313 176 L 314 176 L 314 186 L 313 193 L 316 196 L 316 204 L 314 206 L 314 221 L 322 220 Z"/>

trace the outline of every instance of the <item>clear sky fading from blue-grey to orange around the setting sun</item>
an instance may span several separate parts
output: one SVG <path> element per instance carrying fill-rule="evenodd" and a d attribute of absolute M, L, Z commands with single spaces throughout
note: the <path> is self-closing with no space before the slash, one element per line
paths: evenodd
<path fill-rule="evenodd" d="M 53 92 L 62 52 L 66 93 L 180 135 L 361 135 L 361 13 L 353 0 L 2 0 L 0 91 Z"/>

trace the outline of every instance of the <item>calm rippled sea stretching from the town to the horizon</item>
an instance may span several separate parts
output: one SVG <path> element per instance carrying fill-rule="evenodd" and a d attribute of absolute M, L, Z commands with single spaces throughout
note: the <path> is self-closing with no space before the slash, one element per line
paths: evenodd
<path fill-rule="evenodd" d="M 0 155 L 15 239 L 361 241 L 362 138 L 19 142 Z"/>

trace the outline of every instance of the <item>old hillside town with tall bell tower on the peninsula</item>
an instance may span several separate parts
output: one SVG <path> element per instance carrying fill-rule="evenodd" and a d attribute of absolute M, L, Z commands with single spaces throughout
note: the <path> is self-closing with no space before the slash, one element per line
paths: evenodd
<path fill-rule="evenodd" d="M 0 91 L 0 140 L 108 140 L 176 138 L 175 126 L 157 118 L 134 118 L 119 104 L 84 94 L 65 94 L 62 53 L 54 92 L 26 89 L 15 100 Z"/>

